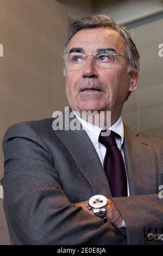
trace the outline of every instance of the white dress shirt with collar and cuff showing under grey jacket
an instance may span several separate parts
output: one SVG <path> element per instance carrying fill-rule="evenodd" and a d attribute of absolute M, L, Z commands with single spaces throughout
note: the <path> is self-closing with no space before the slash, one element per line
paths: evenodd
<path fill-rule="evenodd" d="M 104 165 L 104 157 L 106 154 L 106 148 L 102 143 L 100 143 L 98 141 L 99 135 L 103 129 L 101 127 L 98 127 L 98 126 L 88 123 L 86 120 L 80 118 L 79 115 L 77 115 L 74 111 L 73 111 L 73 113 L 74 113 L 74 115 L 76 115 L 80 124 L 82 124 L 84 130 L 86 131 L 87 135 L 91 139 L 91 142 L 96 149 L 97 155 L 98 155 L 99 159 L 101 160 L 102 165 Z M 116 144 L 122 153 L 124 165 L 126 167 L 126 163 L 125 163 L 125 159 L 124 159 L 124 151 L 123 151 L 124 126 L 123 126 L 122 118 L 121 117 L 118 118 L 116 123 L 114 125 L 112 125 L 109 128 L 109 130 L 114 131 L 117 134 L 117 136 L 115 137 Z M 127 172 L 126 172 L 126 176 L 127 176 Z M 128 178 L 127 178 L 127 188 L 128 188 L 128 196 L 129 196 Z M 123 221 L 121 227 L 126 227 L 124 221 Z"/>

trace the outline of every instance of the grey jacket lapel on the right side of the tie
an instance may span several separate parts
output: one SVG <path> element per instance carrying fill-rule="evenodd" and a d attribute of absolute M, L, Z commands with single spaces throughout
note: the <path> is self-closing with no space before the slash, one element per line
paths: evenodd
<path fill-rule="evenodd" d="M 130 196 L 156 193 L 156 159 L 152 145 L 143 133 L 124 125 L 124 157 Z"/>

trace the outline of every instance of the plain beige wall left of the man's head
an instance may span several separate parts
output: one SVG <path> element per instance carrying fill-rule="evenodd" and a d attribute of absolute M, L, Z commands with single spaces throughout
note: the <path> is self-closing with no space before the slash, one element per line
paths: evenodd
<path fill-rule="evenodd" d="M 55 0 L 0 0 L 0 142 L 8 126 L 67 106 L 61 54 L 67 12 Z M 3 155 L 0 151 L 3 176 Z M 9 243 L 0 199 L 0 245 Z"/>

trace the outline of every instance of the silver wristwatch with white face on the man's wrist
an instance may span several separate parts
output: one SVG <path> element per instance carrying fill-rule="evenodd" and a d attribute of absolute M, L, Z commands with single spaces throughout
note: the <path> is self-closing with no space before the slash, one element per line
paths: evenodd
<path fill-rule="evenodd" d="M 101 217 L 106 222 L 106 205 L 108 204 L 108 198 L 102 196 L 102 194 L 96 194 L 90 197 L 86 202 L 86 206 L 89 210 L 92 210 L 94 214 Z"/>

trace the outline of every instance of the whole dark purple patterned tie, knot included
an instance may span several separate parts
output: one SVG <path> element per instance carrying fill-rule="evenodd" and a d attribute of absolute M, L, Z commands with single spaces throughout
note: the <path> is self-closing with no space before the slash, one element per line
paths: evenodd
<path fill-rule="evenodd" d="M 103 136 L 101 132 L 99 142 L 106 147 L 104 169 L 109 181 L 112 197 L 127 196 L 127 176 L 123 156 L 115 141 L 115 132 L 111 131 L 109 136 Z"/>

